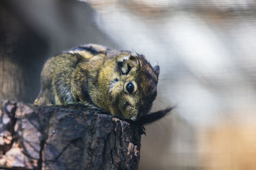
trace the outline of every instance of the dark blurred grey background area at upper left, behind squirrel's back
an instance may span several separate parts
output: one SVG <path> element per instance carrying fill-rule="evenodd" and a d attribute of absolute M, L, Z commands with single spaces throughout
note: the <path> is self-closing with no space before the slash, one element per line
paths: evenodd
<path fill-rule="evenodd" d="M 0 99 L 33 103 L 45 60 L 86 43 L 117 46 L 79 1 L 0 2 Z"/>

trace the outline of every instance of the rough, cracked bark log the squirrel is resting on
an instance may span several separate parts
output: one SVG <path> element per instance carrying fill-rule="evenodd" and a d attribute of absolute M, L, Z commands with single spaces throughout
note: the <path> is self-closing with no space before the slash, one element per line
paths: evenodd
<path fill-rule="evenodd" d="M 0 101 L 0 169 L 138 169 L 138 127 L 99 113 Z"/>

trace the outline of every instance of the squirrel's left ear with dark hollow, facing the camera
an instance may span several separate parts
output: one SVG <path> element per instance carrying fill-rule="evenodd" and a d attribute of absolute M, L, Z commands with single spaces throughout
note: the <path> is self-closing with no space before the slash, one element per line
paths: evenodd
<path fill-rule="evenodd" d="M 124 56 L 120 61 L 122 61 L 121 71 L 123 74 L 128 74 L 131 69 L 140 70 L 140 61 L 134 55 Z"/>

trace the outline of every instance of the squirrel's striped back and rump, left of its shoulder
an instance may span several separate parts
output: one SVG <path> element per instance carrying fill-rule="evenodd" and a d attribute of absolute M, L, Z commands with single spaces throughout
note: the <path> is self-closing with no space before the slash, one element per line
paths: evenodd
<path fill-rule="evenodd" d="M 34 103 L 51 106 L 77 102 L 72 96 L 72 76 L 77 65 L 95 55 L 104 56 L 107 50 L 101 45 L 82 45 L 51 57 L 44 64 L 40 94 Z"/>

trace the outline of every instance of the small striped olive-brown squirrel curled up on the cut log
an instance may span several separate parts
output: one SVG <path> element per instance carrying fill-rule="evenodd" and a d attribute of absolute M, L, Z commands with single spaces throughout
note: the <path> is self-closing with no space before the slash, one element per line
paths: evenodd
<path fill-rule="evenodd" d="M 157 96 L 158 77 L 159 66 L 152 67 L 144 55 L 81 45 L 45 62 L 34 104 L 100 110 L 144 125 L 172 110 L 148 114 Z"/>

